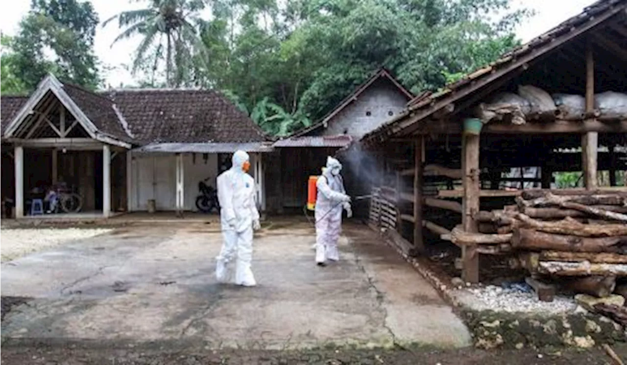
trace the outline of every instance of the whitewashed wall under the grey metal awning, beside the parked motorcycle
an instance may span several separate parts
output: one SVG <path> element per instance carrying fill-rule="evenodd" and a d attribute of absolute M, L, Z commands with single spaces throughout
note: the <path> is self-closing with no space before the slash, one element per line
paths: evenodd
<path fill-rule="evenodd" d="M 196 153 L 196 161 L 191 153 L 184 155 L 184 195 L 185 210 L 196 209 L 199 194 L 198 182 L 204 178 L 208 185 L 216 187 L 218 155 L 209 154 L 205 163 L 202 153 Z M 148 200 L 154 199 L 157 210 L 176 210 L 176 155 L 133 154 L 131 163 L 131 209 L 147 210 Z"/>

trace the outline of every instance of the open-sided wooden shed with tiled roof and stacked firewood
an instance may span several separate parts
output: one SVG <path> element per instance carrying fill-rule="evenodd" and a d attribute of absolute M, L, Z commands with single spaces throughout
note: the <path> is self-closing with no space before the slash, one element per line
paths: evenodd
<path fill-rule="evenodd" d="M 415 252 L 450 240 L 466 282 L 480 279 L 480 255 L 534 277 L 626 275 L 627 190 L 616 186 L 627 158 L 626 9 L 598 1 L 365 135 L 386 171 L 371 223 Z M 581 186 L 557 189 L 564 172 L 581 172 Z"/>

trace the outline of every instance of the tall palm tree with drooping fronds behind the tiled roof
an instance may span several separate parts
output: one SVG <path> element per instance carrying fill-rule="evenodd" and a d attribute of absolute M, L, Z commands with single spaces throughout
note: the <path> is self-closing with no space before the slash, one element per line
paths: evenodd
<path fill-rule="evenodd" d="M 154 49 L 157 58 L 155 58 L 153 69 L 157 68 L 159 59 L 165 58 L 166 85 L 168 87 L 180 86 L 184 79 L 184 71 L 191 69 L 187 66 L 191 64 L 194 55 L 201 54 L 201 57 L 197 59 L 205 59 L 206 47 L 198 31 L 198 26 L 203 21 L 198 13 L 204 9 L 206 1 L 150 0 L 148 8 L 116 14 L 104 21 L 102 26 L 105 27 L 110 21 L 117 19 L 119 27 L 125 29 L 113 40 L 113 44 L 136 34 L 144 37 L 137 47 L 133 72 L 137 71 L 137 68 L 145 61 L 149 49 Z M 163 55 L 164 44 L 165 56 Z M 156 48 L 153 48 L 155 45 Z"/>

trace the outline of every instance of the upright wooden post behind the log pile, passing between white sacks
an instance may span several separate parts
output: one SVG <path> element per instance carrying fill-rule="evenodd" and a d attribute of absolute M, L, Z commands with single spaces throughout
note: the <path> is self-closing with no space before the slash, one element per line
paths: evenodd
<path fill-rule="evenodd" d="M 592 43 L 586 43 L 586 113 L 591 115 L 594 111 L 594 56 Z M 584 123 L 586 123 L 584 121 Z M 599 132 L 586 132 L 581 140 L 582 171 L 584 185 L 587 190 L 597 187 L 597 150 L 599 145 Z"/>

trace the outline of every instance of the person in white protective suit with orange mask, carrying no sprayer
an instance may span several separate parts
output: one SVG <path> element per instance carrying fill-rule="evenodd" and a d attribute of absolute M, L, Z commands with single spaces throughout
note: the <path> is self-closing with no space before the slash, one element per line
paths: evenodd
<path fill-rule="evenodd" d="M 224 240 L 216 257 L 216 279 L 255 286 L 251 270 L 253 229 L 260 229 L 260 223 L 255 204 L 255 180 L 248 175 L 249 169 L 248 153 L 237 151 L 233 154 L 233 166 L 221 173 L 216 182 Z"/>

